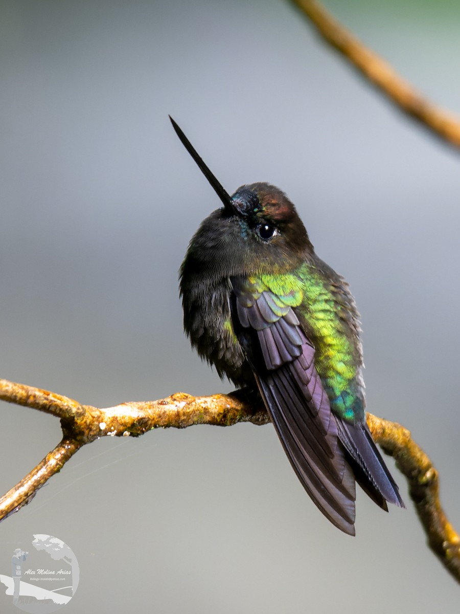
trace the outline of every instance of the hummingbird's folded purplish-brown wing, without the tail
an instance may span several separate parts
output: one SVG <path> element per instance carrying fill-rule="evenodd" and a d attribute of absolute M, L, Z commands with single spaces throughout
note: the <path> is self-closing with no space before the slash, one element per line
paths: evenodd
<path fill-rule="evenodd" d="M 264 291 L 251 299 L 239 281 L 236 331 L 289 461 L 315 505 L 354 535 L 355 480 L 316 373 L 315 349 L 293 309 Z M 255 287 L 252 287 L 255 290 Z M 244 330 L 242 330 L 244 329 Z"/>

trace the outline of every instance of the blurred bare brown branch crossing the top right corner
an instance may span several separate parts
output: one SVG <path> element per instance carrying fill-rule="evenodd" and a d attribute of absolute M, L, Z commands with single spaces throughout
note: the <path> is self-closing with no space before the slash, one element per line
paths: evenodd
<path fill-rule="evenodd" d="M 293 0 L 331 47 L 396 106 L 436 136 L 460 147 L 460 118 L 427 101 L 377 53 L 367 49 L 314 0 Z"/>

